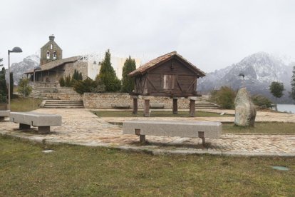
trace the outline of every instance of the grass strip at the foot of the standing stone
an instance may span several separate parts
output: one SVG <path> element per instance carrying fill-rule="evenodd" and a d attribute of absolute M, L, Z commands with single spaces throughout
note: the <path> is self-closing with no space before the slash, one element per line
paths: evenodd
<path fill-rule="evenodd" d="M 264 133 L 295 134 L 295 123 L 259 122 L 254 127 L 234 126 L 234 123 L 222 123 L 223 133 Z"/>

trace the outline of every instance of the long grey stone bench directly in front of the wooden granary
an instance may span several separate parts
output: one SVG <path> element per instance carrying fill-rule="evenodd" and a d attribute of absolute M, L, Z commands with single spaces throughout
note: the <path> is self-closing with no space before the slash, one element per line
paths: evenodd
<path fill-rule="evenodd" d="M 219 138 L 222 134 L 222 123 L 209 121 L 124 121 L 123 134 L 140 136 L 145 142 L 145 135 L 180 136 L 189 138 Z"/>

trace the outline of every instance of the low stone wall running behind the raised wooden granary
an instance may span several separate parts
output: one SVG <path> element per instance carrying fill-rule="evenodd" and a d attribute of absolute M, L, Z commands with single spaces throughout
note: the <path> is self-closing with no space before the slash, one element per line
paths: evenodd
<path fill-rule="evenodd" d="M 133 99 L 129 94 L 125 93 L 85 93 L 83 96 L 85 108 L 112 108 L 115 104 L 129 104 L 133 107 Z M 157 103 L 163 104 L 164 108 L 172 108 L 173 99 L 168 97 L 152 97 L 150 105 Z M 187 98 L 179 98 L 177 101 L 178 108 L 189 108 L 190 100 Z M 144 100 L 138 99 L 138 108 L 143 108 Z"/>

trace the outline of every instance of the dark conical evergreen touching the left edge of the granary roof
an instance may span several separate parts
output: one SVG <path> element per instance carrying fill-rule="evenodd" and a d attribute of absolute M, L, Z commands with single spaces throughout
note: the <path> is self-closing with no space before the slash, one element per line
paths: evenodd
<path fill-rule="evenodd" d="M 129 56 L 126 59 L 124 66 L 123 66 L 123 74 L 122 74 L 122 89 L 123 92 L 130 92 L 134 89 L 134 79 L 128 76 L 130 72 L 136 69 L 135 59 L 131 59 Z"/>

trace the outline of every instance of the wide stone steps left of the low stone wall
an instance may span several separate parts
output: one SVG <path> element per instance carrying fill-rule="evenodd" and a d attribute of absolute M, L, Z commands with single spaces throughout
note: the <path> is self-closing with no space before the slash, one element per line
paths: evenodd
<path fill-rule="evenodd" d="M 83 101 L 73 100 L 43 100 L 43 108 L 84 108 Z"/>

